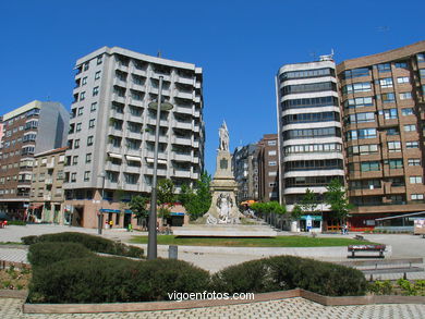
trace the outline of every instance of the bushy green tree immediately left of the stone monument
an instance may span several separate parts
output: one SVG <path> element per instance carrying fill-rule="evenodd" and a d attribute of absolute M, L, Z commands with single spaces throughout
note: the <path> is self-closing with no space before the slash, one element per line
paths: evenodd
<path fill-rule="evenodd" d="M 179 194 L 179 201 L 186 209 L 191 220 L 196 220 L 206 213 L 211 206 L 211 193 L 209 184 L 211 176 L 207 172 L 201 175 L 201 180 L 196 181 L 194 189 L 189 185 L 182 185 Z"/>

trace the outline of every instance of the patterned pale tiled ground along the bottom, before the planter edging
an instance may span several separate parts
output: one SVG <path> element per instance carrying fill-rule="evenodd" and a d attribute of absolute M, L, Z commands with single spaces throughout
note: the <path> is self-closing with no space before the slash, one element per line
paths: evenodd
<path fill-rule="evenodd" d="M 326 307 L 303 298 L 290 298 L 245 305 L 232 305 L 185 310 L 72 315 L 24 315 L 21 311 L 22 303 L 22 299 L 0 298 L 0 318 L 425 318 L 425 305 L 369 305 Z"/>

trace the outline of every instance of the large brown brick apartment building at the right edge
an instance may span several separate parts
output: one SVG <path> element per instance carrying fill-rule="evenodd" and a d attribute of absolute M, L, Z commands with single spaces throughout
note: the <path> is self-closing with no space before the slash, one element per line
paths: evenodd
<path fill-rule="evenodd" d="M 425 210 L 425 41 L 337 68 L 353 226 Z"/>

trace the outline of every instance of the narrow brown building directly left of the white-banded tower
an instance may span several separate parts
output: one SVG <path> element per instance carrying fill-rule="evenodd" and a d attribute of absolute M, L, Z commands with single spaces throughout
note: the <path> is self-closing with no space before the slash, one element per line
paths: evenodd
<path fill-rule="evenodd" d="M 279 147 L 277 134 L 265 134 L 257 144 L 258 200 L 279 200 Z"/>

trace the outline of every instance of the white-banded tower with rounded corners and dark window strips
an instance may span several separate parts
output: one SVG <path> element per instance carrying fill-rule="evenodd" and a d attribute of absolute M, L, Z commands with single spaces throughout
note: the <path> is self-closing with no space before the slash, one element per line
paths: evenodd
<path fill-rule="evenodd" d="M 332 179 L 344 179 L 335 68 L 324 56 L 283 65 L 276 77 L 280 189 L 288 211 L 307 188 L 320 197 Z"/>

